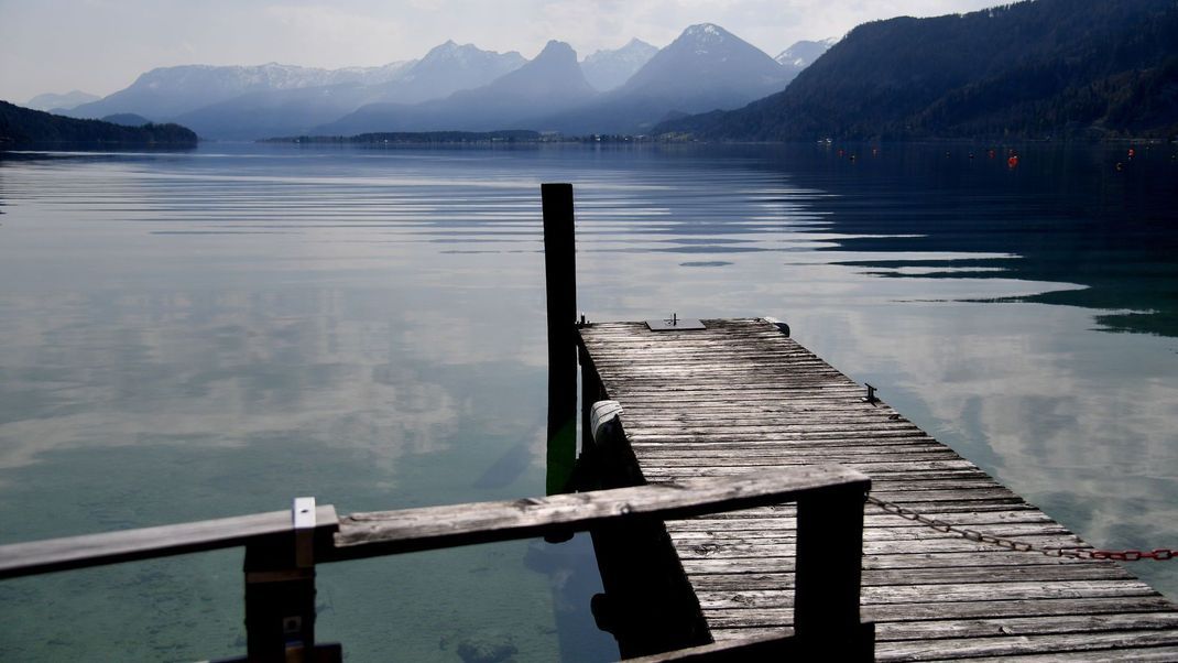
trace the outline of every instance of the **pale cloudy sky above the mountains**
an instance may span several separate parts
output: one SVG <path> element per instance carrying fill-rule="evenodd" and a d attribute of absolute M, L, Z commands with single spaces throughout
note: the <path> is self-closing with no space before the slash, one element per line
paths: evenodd
<path fill-rule="evenodd" d="M 0 99 L 110 94 L 176 65 L 282 62 L 338 68 L 419 58 L 452 39 L 583 58 L 631 38 L 670 44 L 689 25 L 724 27 L 776 55 L 899 15 L 969 12 L 1006 0 L 0 0 Z"/>

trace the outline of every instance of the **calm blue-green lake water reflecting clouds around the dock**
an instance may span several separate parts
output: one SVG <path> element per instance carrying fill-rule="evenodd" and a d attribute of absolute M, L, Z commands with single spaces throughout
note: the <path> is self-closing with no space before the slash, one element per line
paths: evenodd
<path fill-rule="evenodd" d="M 571 181 L 591 319 L 782 318 L 1094 545 L 1178 548 L 1174 148 L 994 147 L 0 154 L 0 543 L 543 493 L 540 184 Z M 0 583 L 0 658 L 241 654 L 240 563 Z M 318 586 L 350 661 L 617 654 L 584 536 Z"/>

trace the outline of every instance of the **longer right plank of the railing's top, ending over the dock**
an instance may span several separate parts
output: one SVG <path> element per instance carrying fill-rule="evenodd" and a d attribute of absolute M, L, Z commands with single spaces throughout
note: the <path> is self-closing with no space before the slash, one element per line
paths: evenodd
<path fill-rule="evenodd" d="M 631 518 L 673 519 L 823 495 L 863 496 L 871 479 L 840 465 L 702 477 L 509 502 L 352 513 L 339 519 L 324 562 L 582 531 Z"/>

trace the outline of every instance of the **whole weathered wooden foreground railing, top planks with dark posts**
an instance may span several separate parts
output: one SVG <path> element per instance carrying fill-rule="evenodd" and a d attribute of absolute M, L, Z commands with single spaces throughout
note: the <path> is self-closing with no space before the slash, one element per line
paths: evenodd
<path fill-rule="evenodd" d="M 856 471 L 815 465 L 345 517 L 298 498 L 291 511 L 0 546 L 0 578 L 244 546 L 247 659 L 332 661 L 339 659 L 339 645 L 315 639 L 316 564 L 798 502 L 795 632 L 839 638 L 860 629 L 862 503 L 869 485 Z"/>

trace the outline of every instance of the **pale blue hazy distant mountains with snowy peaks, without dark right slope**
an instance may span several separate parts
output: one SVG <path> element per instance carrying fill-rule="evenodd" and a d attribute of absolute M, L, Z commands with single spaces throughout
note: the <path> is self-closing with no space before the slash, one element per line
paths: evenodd
<path fill-rule="evenodd" d="M 818 42 L 792 49 L 805 44 Z M 106 98 L 59 112 L 135 114 L 232 140 L 503 128 L 636 133 L 667 118 L 740 107 L 782 89 L 801 68 L 704 24 L 688 27 L 662 49 L 634 39 L 580 62 L 558 41 L 530 61 L 517 52 L 448 41 L 421 59 L 380 67 L 164 67 Z"/>

